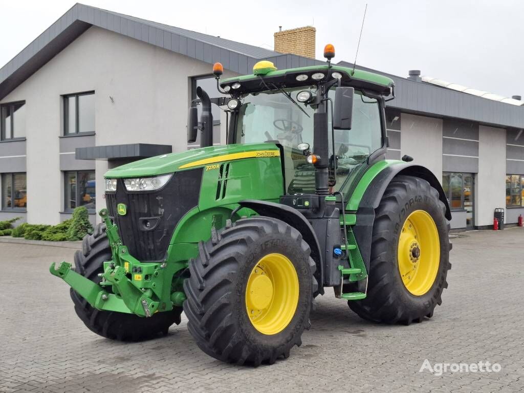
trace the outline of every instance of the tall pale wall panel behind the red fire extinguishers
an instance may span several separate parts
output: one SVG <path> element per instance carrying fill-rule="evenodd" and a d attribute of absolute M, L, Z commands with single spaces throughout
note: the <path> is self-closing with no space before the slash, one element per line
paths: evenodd
<path fill-rule="evenodd" d="M 506 130 L 479 126 L 475 225 L 493 225 L 496 208 L 506 208 Z"/>

